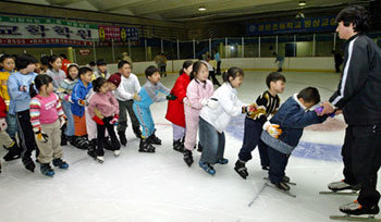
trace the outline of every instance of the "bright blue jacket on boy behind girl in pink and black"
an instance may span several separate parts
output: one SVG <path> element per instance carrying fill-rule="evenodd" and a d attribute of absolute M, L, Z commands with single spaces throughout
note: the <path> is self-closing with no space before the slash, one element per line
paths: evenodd
<path fill-rule="evenodd" d="M 79 104 L 79 100 L 85 100 L 87 94 L 93 88 L 93 85 L 89 83 L 87 87 L 82 83 L 82 81 L 78 81 L 77 84 L 75 84 L 72 92 L 72 113 L 76 116 L 82 118 L 85 113 L 85 107 Z"/>

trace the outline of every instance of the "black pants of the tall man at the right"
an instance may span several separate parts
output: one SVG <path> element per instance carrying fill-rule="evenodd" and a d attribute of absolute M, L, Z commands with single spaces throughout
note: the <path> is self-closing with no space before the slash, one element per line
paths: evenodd
<path fill-rule="evenodd" d="M 357 198 L 362 206 L 378 205 L 377 173 L 381 164 L 381 124 L 349 125 L 342 147 L 345 182 L 360 185 Z"/>

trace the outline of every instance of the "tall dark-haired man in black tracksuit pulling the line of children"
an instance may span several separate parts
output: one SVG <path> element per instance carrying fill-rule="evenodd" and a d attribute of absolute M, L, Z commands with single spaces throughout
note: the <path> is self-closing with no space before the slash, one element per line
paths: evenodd
<path fill-rule="evenodd" d="M 377 214 L 380 193 L 377 173 L 381 164 L 381 51 L 364 33 L 369 13 L 347 7 L 337 17 L 336 32 L 346 39 L 344 69 L 337 90 L 323 102 L 323 112 L 343 112 L 348 127 L 342 147 L 344 180 L 329 184 L 332 190 L 360 189 L 357 200 L 343 205 L 348 214 Z"/>

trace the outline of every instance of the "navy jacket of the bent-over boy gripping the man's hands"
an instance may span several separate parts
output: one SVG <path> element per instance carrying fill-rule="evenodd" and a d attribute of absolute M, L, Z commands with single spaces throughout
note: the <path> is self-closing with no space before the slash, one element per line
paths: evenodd
<path fill-rule="evenodd" d="M 282 128 L 280 137 L 274 138 L 267 131 L 263 131 L 261 139 L 273 149 L 290 155 L 299 144 L 305 127 L 322 123 L 325 120 L 327 115 L 319 116 L 315 111 L 306 110 L 295 94 L 281 106 L 270 120 L 270 123 L 278 124 Z"/>

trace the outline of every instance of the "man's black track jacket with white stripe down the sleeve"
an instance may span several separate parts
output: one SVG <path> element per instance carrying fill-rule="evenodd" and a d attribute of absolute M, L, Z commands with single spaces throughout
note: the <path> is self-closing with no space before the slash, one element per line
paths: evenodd
<path fill-rule="evenodd" d="M 349 125 L 381 123 L 381 50 L 368 36 L 346 41 L 342 78 L 330 102 Z"/>

